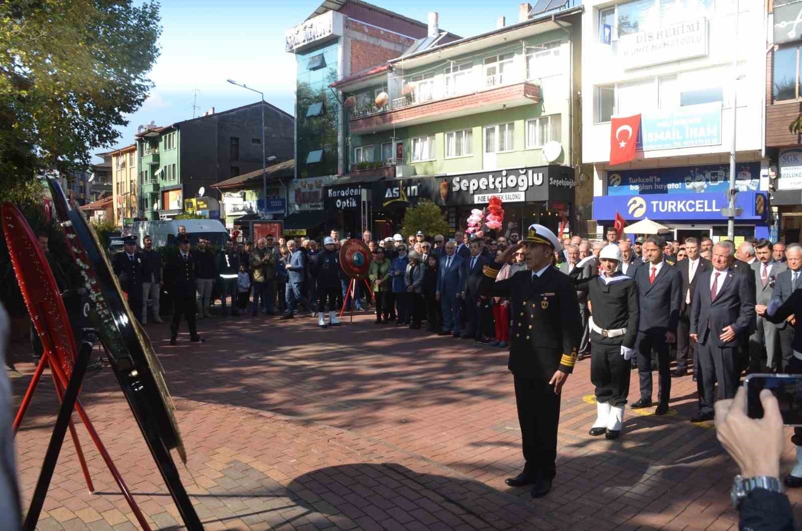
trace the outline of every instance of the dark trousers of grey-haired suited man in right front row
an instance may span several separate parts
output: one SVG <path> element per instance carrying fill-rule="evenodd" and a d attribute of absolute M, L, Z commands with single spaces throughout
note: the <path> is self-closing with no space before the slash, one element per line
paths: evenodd
<path fill-rule="evenodd" d="M 713 330 L 709 334 L 712 334 Z M 710 338 L 707 343 L 696 343 L 699 351 L 699 374 L 696 375 L 696 391 L 699 393 L 699 414 L 713 412 L 715 400 L 730 399 L 738 391 L 740 379 L 738 347 L 717 347 Z M 713 386 L 719 386 L 713 395 Z"/>

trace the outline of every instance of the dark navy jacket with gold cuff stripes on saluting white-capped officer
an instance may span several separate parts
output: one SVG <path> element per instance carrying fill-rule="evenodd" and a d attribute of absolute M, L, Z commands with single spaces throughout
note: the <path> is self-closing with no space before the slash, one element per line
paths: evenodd
<path fill-rule="evenodd" d="M 582 336 L 577 290 L 568 275 L 549 267 L 533 279 L 530 270 L 496 282 L 493 261 L 480 284 L 480 293 L 508 297 L 512 328 L 509 330 L 509 370 L 522 378 L 552 378 L 559 369 L 573 371 Z"/>

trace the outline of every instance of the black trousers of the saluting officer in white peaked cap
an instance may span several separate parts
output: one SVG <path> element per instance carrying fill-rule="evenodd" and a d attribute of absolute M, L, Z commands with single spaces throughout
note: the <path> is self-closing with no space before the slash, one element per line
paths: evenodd
<path fill-rule="evenodd" d="M 525 472 L 545 480 L 557 475 L 557 424 L 560 423 L 560 395 L 542 378 L 514 376 Z"/>

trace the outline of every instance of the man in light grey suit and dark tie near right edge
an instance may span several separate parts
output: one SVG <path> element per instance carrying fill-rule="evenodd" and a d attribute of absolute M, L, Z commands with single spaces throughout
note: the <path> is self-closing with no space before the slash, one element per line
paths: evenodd
<path fill-rule="evenodd" d="M 777 275 L 788 266 L 774 261 L 772 242 L 760 240 L 755 244 L 757 260 L 751 263 L 755 274 L 755 331 L 749 336 L 749 372 L 770 372 L 780 363 L 780 330 L 765 318 L 766 307 L 772 302 Z M 764 342 L 766 356 L 763 355 Z"/>

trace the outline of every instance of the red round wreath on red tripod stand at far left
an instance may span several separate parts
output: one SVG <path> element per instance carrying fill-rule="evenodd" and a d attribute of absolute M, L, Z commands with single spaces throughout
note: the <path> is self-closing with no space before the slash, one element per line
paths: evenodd
<path fill-rule="evenodd" d="M 67 310 L 59 294 L 59 287 L 56 285 L 51 267 L 47 263 L 47 258 L 42 249 L 39 248 L 38 238 L 30 229 L 22 213 L 10 203 L 6 203 L 2 206 L 2 225 L 11 256 L 11 263 L 14 266 L 14 273 L 17 275 L 19 288 L 22 291 L 22 297 L 25 299 L 28 312 L 30 313 L 30 319 L 34 323 L 34 329 L 42 341 L 44 353 L 42 359 L 39 360 L 39 364 L 34 372 L 34 377 L 30 380 L 30 385 L 19 406 L 17 416 L 14 419 L 14 433 L 16 433 L 19 425 L 22 424 L 22 419 L 30 404 L 30 399 L 33 398 L 34 391 L 39 379 L 42 377 L 46 364 L 51 367 L 53 384 L 55 385 L 56 393 L 59 395 L 59 400 L 62 402 L 64 401 L 64 395 L 67 392 L 67 387 L 70 385 L 71 376 L 75 367 L 77 349 L 75 347 L 72 327 L 69 318 L 67 318 Z M 80 373 L 81 374 L 76 375 L 79 379 L 83 378 L 83 371 L 80 371 Z M 73 385 L 75 386 L 75 383 L 73 383 Z M 120 492 L 123 493 L 125 500 L 128 501 L 128 505 L 136 516 L 136 520 L 139 521 L 142 529 L 150 531 L 151 528 L 148 522 L 145 521 L 142 511 L 140 511 L 139 506 L 136 505 L 136 501 L 134 501 L 123 477 L 120 476 L 117 467 L 111 460 L 111 456 L 109 456 L 105 446 L 103 446 L 103 442 L 100 440 L 94 426 L 92 426 L 77 396 L 75 397 L 75 411 L 78 411 L 83 425 L 87 428 L 87 432 L 89 432 L 91 440 L 94 441 L 95 447 L 98 449 L 98 452 L 100 452 L 100 456 L 103 457 L 103 461 L 106 462 L 111 476 L 114 476 L 114 480 L 119 486 Z M 89 492 L 95 492 L 95 487 L 92 484 L 89 469 L 87 468 L 87 462 L 83 457 L 83 450 L 78 439 L 78 432 L 75 431 L 75 426 L 72 424 L 71 419 L 68 420 L 68 424 L 72 440 L 75 443 L 75 452 L 78 455 L 78 460 L 83 470 L 83 476 L 87 480 L 87 488 L 89 488 Z M 52 440 L 51 444 L 53 444 Z M 58 444 L 58 446 L 60 448 L 60 444 Z M 48 472 L 52 475 L 52 468 L 55 468 L 55 460 L 57 458 L 58 451 L 55 452 L 55 456 L 51 456 L 51 451 L 48 449 L 48 458 L 43 465 L 43 477 L 46 477 Z M 41 480 L 42 478 L 40 478 L 40 483 Z M 32 525 L 30 529 L 33 529 L 36 525 L 38 513 L 41 511 L 44 502 L 44 495 L 47 493 L 47 483 L 49 483 L 49 478 L 47 478 L 47 481 L 42 487 L 43 491 L 40 485 L 37 486 L 37 490 L 34 493 L 34 500 L 31 501 L 29 515 L 26 518 L 26 528 L 28 528 L 28 525 Z"/>

